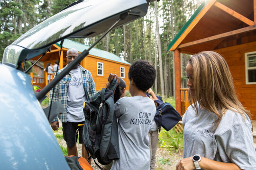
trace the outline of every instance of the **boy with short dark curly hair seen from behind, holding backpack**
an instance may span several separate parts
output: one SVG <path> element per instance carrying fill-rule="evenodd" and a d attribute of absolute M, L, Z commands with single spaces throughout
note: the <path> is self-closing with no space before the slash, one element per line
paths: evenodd
<path fill-rule="evenodd" d="M 109 82 L 117 78 L 110 74 Z M 115 104 L 118 118 L 120 159 L 113 161 L 111 170 L 150 170 L 150 150 L 147 136 L 155 116 L 155 103 L 146 91 L 155 82 L 155 68 L 146 60 L 137 60 L 129 68 L 129 91 Z M 118 80 L 119 81 L 119 80 Z"/>

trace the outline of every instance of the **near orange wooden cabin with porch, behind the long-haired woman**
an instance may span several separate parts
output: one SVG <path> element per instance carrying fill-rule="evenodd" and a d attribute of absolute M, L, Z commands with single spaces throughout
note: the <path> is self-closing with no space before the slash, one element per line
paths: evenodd
<path fill-rule="evenodd" d="M 256 120 L 256 0 L 209 0 L 201 4 L 169 44 L 169 51 L 174 51 L 178 112 L 182 112 L 184 100 L 181 91 L 186 91 L 181 90 L 181 52 L 217 51 L 229 65 L 240 102 Z"/>

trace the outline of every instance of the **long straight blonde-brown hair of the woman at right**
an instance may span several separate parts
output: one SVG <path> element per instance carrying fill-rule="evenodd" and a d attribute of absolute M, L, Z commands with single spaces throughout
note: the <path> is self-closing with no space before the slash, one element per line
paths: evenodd
<path fill-rule="evenodd" d="M 191 105 L 194 102 L 192 108 L 196 113 L 199 104 L 201 108 L 216 114 L 215 129 L 227 110 L 240 113 L 244 119 L 245 114 L 250 118 L 249 111 L 238 100 L 229 66 L 219 53 L 202 51 L 194 54 L 188 64 L 193 69 L 195 91 L 193 96 L 189 93 L 189 102 Z"/>

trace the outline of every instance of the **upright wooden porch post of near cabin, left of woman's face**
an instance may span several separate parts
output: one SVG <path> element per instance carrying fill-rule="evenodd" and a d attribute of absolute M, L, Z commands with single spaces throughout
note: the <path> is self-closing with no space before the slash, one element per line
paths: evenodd
<path fill-rule="evenodd" d="M 181 51 L 174 51 L 174 74 L 175 74 L 175 103 L 176 110 L 182 114 L 181 109 Z"/>

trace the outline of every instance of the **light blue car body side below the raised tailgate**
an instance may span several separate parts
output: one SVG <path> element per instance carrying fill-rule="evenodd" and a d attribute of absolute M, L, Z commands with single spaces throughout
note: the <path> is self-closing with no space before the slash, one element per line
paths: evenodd
<path fill-rule="evenodd" d="M 69 170 L 27 74 L 0 64 L 1 170 Z"/>

